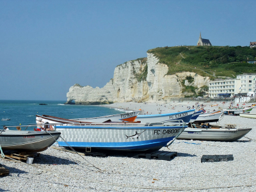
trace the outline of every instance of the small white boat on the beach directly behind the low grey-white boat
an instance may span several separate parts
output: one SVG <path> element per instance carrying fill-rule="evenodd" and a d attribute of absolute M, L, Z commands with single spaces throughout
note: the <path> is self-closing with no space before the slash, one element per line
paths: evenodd
<path fill-rule="evenodd" d="M 218 122 L 223 117 L 223 111 L 211 111 L 209 113 L 201 113 L 196 120 L 195 124 L 205 123 L 205 122 Z"/>

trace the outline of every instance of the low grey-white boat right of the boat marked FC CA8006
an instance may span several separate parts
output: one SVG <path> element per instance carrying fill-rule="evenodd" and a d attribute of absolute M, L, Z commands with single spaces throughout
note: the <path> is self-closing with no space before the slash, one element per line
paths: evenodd
<path fill-rule="evenodd" d="M 186 128 L 177 138 L 179 140 L 204 140 L 204 141 L 236 141 L 243 138 L 252 128 L 241 129 L 235 125 L 220 127 L 217 125 Z"/>

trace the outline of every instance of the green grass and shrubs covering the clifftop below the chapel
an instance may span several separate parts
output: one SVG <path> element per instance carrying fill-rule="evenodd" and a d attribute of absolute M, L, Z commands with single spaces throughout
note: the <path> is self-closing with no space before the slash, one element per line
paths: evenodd
<path fill-rule="evenodd" d="M 247 60 L 256 59 L 256 48 L 183 46 L 158 47 L 147 52 L 159 58 L 159 63 L 168 65 L 168 74 L 189 71 L 211 79 L 220 77 L 235 78 L 244 73 L 256 73 L 256 65 Z"/>

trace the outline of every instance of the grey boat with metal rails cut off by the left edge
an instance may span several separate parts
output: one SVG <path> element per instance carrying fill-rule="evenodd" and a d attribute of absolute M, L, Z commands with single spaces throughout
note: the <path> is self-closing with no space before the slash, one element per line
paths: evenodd
<path fill-rule="evenodd" d="M 33 125 L 35 126 L 35 125 Z M 3 150 L 17 150 L 19 152 L 40 152 L 50 147 L 61 132 L 58 131 L 27 131 L 6 130 L 6 126 L 0 132 L 0 145 Z M 29 126 L 19 126 L 29 127 Z"/>

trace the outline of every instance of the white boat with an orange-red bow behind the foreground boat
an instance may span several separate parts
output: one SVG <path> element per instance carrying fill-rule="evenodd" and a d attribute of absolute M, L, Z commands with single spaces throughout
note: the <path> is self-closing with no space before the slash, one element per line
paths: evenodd
<path fill-rule="evenodd" d="M 82 122 L 134 122 L 136 117 L 139 115 L 140 110 L 138 111 L 130 111 L 127 113 L 121 113 L 116 115 L 108 115 L 108 116 L 97 116 L 90 118 L 73 118 L 72 120 L 82 121 Z"/>

